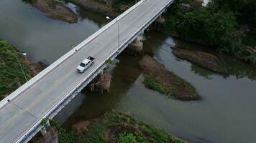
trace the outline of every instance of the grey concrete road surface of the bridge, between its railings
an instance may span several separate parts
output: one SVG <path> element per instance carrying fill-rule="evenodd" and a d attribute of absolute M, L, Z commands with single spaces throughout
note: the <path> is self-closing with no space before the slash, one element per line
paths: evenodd
<path fill-rule="evenodd" d="M 146 0 L 119 19 L 120 43 L 152 19 L 171 0 Z M 83 30 L 83 29 L 81 29 Z M 82 79 L 104 63 L 118 48 L 118 25 L 115 22 L 75 54 L 52 69 L 42 79 L 24 89 L 0 109 L 0 142 L 17 142 L 23 134 L 40 121 L 47 112 L 65 97 Z M 87 56 L 96 61 L 85 73 L 76 72 L 76 66 Z"/>

